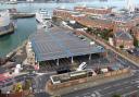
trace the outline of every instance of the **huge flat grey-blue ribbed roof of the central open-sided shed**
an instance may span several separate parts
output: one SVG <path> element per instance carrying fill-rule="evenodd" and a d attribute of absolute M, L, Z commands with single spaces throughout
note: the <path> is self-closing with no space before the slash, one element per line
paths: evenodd
<path fill-rule="evenodd" d="M 52 27 L 47 32 L 42 29 L 38 32 L 30 36 L 37 61 L 104 52 L 100 46 L 90 46 L 89 43 L 81 40 L 71 31 Z"/>

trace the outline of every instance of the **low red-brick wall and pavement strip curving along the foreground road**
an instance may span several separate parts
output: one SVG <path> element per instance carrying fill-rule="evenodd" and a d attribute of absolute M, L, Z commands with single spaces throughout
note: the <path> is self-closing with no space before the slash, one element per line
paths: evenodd
<path fill-rule="evenodd" d="M 84 89 L 90 86 L 103 84 L 106 82 L 125 78 L 130 75 L 131 75 L 131 72 L 129 69 L 123 69 L 123 70 L 113 71 L 104 74 L 99 74 L 96 76 L 89 76 L 85 78 L 68 81 L 68 82 L 64 82 L 55 85 L 52 84 L 51 81 L 48 81 L 46 89 L 47 89 L 47 93 L 51 95 L 62 95 L 62 94 L 75 92 L 77 89 Z"/>

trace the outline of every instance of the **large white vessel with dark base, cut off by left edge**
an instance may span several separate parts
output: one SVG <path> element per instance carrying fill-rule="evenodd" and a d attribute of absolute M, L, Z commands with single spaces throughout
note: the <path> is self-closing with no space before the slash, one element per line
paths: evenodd
<path fill-rule="evenodd" d="M 0 11 L 0 36 L 14 32 L 14 23 L 10 20 L 9 10 Z"/>

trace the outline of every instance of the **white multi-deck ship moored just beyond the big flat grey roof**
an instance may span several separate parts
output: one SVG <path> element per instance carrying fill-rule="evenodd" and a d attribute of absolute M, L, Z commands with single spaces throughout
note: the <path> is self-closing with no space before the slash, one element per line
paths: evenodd
<path fill-rule="evenodd" d="M 46 9 L 39 9 L 39 11 L 36 12 L 36 20 L 43 24 L 47 20 L 51 20 L 51 15 Z"/>

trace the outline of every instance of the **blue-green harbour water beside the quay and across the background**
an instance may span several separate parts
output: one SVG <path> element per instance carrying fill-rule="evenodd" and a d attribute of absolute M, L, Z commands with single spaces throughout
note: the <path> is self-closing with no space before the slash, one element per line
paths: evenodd
<path fill-rule="evenodd" d="M 136 0 L 136 4 L 139 4 L 139 0 Z M 38 9 L 47 9 L 50 13 L 54 8 L 67 8 L 73 9 L 75 5 L 87 7 L 117 7 L 125 8 L 125 0 L 108 0 L 105 2 L 99 0 L 92 0 L 92 2 L 76 2 L 76 3 L 18 3 L 18 4 L 0 4 L 0 10 L 16 8 L 23 12 L 35 12 Z M 22 43 L 28 38 L 28 36 L 36 32 L 37 22 L 35 17 L 20 19 L 16 22 L 17 29 L 11 34 L 0 37 L 0 57 L 4 57 L 7 53 L 17 48 Z"/>

